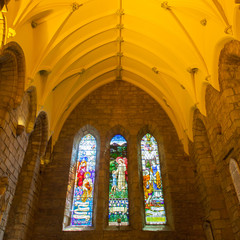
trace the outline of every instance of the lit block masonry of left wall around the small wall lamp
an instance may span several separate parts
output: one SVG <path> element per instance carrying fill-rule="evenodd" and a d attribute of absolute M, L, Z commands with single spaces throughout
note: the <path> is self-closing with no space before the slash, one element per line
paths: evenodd
<path fill-rule="evenodd" d="M 15 194 L 18 175 L 21 171 L 28 144 L 26 132 L 23 132 L 20 136 L 16 135 L 19 118 L 26 121 L 29 114 L 28 101 L 28 95 L 25 95 L 22 104 L 18 108 L 5 113 L 5 118 L 2 119 L 0 125 L 0 178 L 7 177 L 8 179 L 8 186 L 3 196 L 4 199 L 2 199 L 6 201 L 7 204 L 4 209 L 3 206 L 0 206 L 1 214 L 3 214 L 2 219 L 0 219 L 0 239 L 2 239 L 6 227 L 9 209 Z"/>

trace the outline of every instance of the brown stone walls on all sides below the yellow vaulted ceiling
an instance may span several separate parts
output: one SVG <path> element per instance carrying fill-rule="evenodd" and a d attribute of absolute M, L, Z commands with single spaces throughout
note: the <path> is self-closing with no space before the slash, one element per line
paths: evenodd
<path fill-rule="evenodd" d="M 230 162 L 236 169 L 240 166 L 239 42 L 230 41 L 220 54 L 220 91 L 207 87 L 206 116 L 194 112 L 189 155 L 160 105 L 146 92 L 119 80 L 98 88 L 77 105 L 52 148 L 47 114 L 41 112 L 36 118 L 36 89 L 23 91 L 23 53 L 9 44 L 3 56 L 0 240 L 240 239 L 239 170 L 234 177 L 229 170 Z M 20 121 L 26 128 L 17 135 Z M 148 132 L 159 147 L 167 213 L 167 225 L 161 229 L 144 225 L 140 141 Z M 69 221 L 65 204 L 72 150 L 87 133 L 98 144 L 94 226 L 87 231 L 63 231 Z M 115 134 L 128 143 L 128 227 L 107 225 L 109 143 Z"/>

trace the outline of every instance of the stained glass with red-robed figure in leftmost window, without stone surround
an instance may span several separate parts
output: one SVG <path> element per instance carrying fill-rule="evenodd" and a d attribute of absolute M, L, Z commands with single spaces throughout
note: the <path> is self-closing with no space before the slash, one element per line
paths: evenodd
<path fill-rule="evenodd" d="M 92 226 L 96 140 L 91 134 L 81 139 L 76 164 L 71 225 Z"/>

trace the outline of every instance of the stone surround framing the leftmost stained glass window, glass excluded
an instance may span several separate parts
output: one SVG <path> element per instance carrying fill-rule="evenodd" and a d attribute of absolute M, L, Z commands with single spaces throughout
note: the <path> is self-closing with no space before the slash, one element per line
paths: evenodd
<path fill-rule="evenodd" d="M 93 226 L 96 225 L 96 209 L 97 209 L 97 196 L 98 196 L 98 172 L 99 172 L 99 158 L 100 158 L 100 135 L 96 128 L 87 124 L 83 126 L 78 132 L 75 134 L 73 139 L 73 146 L 72 146 L 72 156 L 70 162 L 70 169 L 69 169 L 69 178 L 68 178 L 68 188 L 66 193 L 66 203 L 64 209 L 64 216 L 63 216 L 63 230 L 76 230 L 78 228 L 71 228 L 71 209 L 73 204 L 73 194 L 74 194 L 74 185 L 75 185 L 75 175 L 76 175 L 76 160 L 77 160 L 77 153 L 78 147 L 81 139 L 86 135 L 91 134 L 94 136 L 97 142 L 97 153 L 96 153 L 96 168 L 95 168 L 95 184 L 94 184 L 94 199 L 93 199 Z M 86 227 L 85 227 L 86 228 Z M 91 227 L 89 228 L 91 229 Z M 81 230 L 79 227 L 78 230 Z"/>

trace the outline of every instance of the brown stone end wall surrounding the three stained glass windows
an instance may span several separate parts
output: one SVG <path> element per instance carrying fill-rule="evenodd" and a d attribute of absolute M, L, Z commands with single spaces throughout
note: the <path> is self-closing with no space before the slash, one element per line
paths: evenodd
<path fill-rule="evenodd" d="M 82 129 L 95 128 L 100 136 L 96 170 L 94 229 L 63 231 L 63 217 L 73 139 Z M 143 191 L 139 146 L 150 132 L 159 144 L 161 171 L 168 218 L 165 231 L 143 231 Z M 128 142 L 129 215 L 126 230 L 107 227 L 109 142 L 122 134 Z M 100 87 L 83 99 L 65 122 L 45 168 L 34 216 L 34 240 L 167 239 L 203 240 L 203 210 L 195 187 L 194 166 L 185 155 L 168 116 L 147 93 L 123 81 Z"/>

